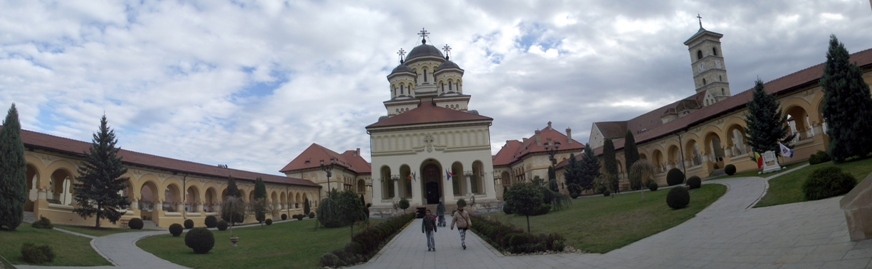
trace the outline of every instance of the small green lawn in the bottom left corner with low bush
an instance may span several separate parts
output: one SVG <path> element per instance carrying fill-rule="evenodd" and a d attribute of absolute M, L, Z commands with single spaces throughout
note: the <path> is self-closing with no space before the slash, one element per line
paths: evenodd
<path fill-rule="evenodd" d="M 12 264 L 27 264 L 21 257 L 21 245 L 26 242 L 51 246 L 55 260 L 43 265 L 112 265 L 91 248 L 90 238 L 55 230 L 34 229 L 28 223 L 22 223 L 15 231 L 0 230 L 0 256 Z"/>

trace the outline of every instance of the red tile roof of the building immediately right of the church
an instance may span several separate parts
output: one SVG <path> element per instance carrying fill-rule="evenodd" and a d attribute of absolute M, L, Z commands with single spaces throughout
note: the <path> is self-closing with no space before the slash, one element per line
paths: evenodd
<path fill-rule="evenodd" d="M 584 144 L 575 139 L 572 139 L 570 142 L 566 135 L 551 127 L 545 127 L 542 131 L 537 130 L 537 132 L 539 135 L 539 141 L 541 142 L 540 144 L 536 144 L 536 134 L 524 142 L 518 140 L 506 141 L 506 145 L 497 152 L 497 155 L 493 156 L 494 166 L 511 165 L 512 163 L 522 160 L 527 155 L 545 153 L 545 143 L 549 140 L 560 142 L 560 151 L 576 151 L 584 149 Z"/>

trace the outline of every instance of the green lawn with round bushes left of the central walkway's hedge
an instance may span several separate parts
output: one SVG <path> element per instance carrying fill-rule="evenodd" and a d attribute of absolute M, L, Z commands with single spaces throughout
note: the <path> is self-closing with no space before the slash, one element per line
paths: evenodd
<path fill-rule="evenodd" d="M 194 254 L 185 246 L 185 234 L 153 236 L 136 245 L 192 268 L 316 268 L 322 254 L 345 247 L 351 235 L 348 227 L 316 231 L 314 225 L 314 220 L 307 220 L 234 229 L 238 247 L 231 246 L 229 231 L 213 231 L 215 247 L 208 254 Z"/>

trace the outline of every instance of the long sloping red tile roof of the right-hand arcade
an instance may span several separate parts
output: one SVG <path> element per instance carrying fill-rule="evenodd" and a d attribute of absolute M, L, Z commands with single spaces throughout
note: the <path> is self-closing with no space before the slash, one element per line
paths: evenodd
<path fill-rule="evenodd" d="M 858 66 L 863 68 L 872 67 L 872 49 L 867 49 L 852 54 L 850 61 L 852 63 L 856 63 Z M 783 95 L 795 90 L 804 89 L 807 86 L 817 85 L 818 80 L 820 80 L 820 77 L 823 75 L 823 72 L 824 64 L 821 63 L 769 81 L 763 86 L 765 87 L 766 92 L 769 94 Z M 687 116 L 677 118 L 665 124 L 653 124 L 656 122 L 662 122 L 660 120 L 660 115 L 662 115 L 660 111 L 665 111 L 665 109 L 674 106 L 675 103 L 672 103 L 670 105 L 666 105 L 664 107 L 658 108 L 654 111 L 645 113 L 643 115 L 640 115 L 639 117 L 631 119 L 627 124 L 627 128 L 633 131 L 634 134 L 636 134 L 638 133 L 638 131 L 643 129 L 640 127 L 654 125 L 652 127 L 645 128 L 647 129 L 645 132 L 638 133 L 636 135 L 636 143 L 643 143 L 646 141 L 655 140 L 667 135 L 672 135 L 679 131 L 686 130 L 692 126 L 711 120 L 713 118 L 717 118 L 721 115 L 742 109 L 748 104 L 748 101 L 751 101 L 753 93 L 754 91 L 748 89 L 732 97 L 726 98 L 720 102 L 700 108 L 699 110 L 690 113 Z M 696 94 L 689 98 L 694 98 L 695 96 Z M 618 147 L 618 143 L 615 143 L 615 149 L 620 148 L 623 148 L 623 144 Z M 597 155 L 601 154 L 602 147 L 594 149 L 594 153 L 596 153 Z"/>

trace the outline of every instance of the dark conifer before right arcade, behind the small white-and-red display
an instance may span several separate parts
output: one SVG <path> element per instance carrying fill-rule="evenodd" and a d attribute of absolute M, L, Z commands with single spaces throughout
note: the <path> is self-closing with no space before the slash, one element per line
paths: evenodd
<path fill-rule="evenodd" d="M 778 142 L 787 144 L 796 136 L 788 135 L 787 115 L 782 115 L 778 100 L 766 93 L 760 79 L 754 82 L 754 95 L 748 102 L 745 126 L 745 141 L 758 153 L 771 150 L 780 154 Z"/>

